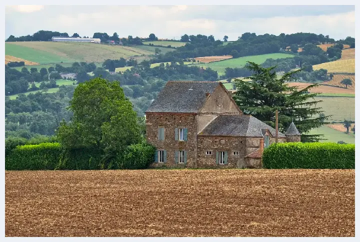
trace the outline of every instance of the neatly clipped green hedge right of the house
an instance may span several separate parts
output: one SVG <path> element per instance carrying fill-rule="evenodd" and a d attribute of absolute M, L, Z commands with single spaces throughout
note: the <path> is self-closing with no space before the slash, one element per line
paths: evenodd
<path fill-rule="evenodd" d="M 274 143 L 262 154 L 264 168 L 354 169 L 355 145 L 337 143 Z"/>

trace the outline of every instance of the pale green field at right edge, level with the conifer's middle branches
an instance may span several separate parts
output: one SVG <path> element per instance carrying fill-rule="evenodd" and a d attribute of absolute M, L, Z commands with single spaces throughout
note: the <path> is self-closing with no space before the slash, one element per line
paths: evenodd
<path fill-rule="evenodd" d="M 319 96 L 315 100 L 322 100 L 316 107 L 321 107 L 325 115 L 332 115 L 328 121 L 355 120 L 355 98 Z"/>

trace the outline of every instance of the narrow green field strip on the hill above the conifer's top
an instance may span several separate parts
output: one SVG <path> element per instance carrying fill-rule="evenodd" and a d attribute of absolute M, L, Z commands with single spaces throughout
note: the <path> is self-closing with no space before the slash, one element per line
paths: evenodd
<path fill-rule="evenodd" d="M 261 64 L 268 58 L 278 59 L 278 58 L 286 58 L 286 57 L 292 57 L 292 56 L 293 56 L 292 54 L 271 53 L 271 54 L 243 56 L 243 57 L 225 59 L 225 60 L 209 62 L 209 63 L 196 63 L 193 65 L 202 66 L 204 68 L 210 67 L 211 69 L 216 70 L 217 74 L 220 76 L 220 75 L 225 74 L 226 67 L 230 67 L 230 68 L 243 67 L 246 64 L 246 61 L 252 61 L 257 64 Z"/>

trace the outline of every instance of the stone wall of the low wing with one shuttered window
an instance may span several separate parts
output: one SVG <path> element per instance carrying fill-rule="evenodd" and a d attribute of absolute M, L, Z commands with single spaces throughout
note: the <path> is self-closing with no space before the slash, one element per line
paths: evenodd
<path fill-rule="evenodd" d="M 244 167 L 245 137 L 198 136 L 197 166 L 234 168 Z M 206 154 L 211 151 L 211 154 Z M 216 151 L 227 151 L 227 164 L 216 164 Z M 237 155 L 232 152 L 237 151 Z"/>

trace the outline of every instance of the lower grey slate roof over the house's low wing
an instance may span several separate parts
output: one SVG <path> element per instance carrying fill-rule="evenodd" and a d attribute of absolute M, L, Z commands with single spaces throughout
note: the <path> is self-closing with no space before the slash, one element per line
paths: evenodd
<path fill-rule="evenodd" d="M 275 136 L 275 129 L 251 115 L 219 115 L 199 135 L 262 137 L 264 129 Z M 278 132 L 278 137 L 286 137 Z"/>

